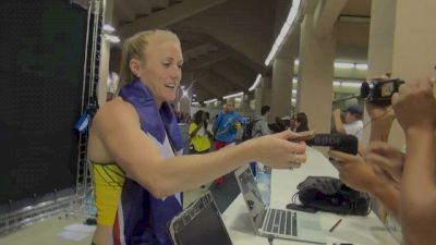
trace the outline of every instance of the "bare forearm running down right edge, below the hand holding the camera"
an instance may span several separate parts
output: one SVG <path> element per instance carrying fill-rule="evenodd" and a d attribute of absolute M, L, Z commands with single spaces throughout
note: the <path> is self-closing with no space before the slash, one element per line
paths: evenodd
<path fill-rule="evenodd" d="M 405 132 L 400 219 L 410 244 L 434 244 L 436 233 L 435 137 L 432 130 Z"/>

